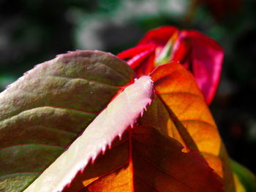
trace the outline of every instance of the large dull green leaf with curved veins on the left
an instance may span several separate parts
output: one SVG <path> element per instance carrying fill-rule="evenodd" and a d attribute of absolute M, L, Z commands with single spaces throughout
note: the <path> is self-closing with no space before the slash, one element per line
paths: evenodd
<path fill-rule="evenodd" d="M 1 191 L 22 191 L 134 77 L 114 55 L 75 51 L 8 86 L 0 94 Z"/>

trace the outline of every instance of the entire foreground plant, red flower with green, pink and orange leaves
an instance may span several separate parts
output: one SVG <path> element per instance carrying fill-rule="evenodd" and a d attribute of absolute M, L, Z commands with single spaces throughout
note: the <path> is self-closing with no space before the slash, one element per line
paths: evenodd
<path fill-rule="evenodd" d="M 213 39 L 163 27 L 118 57 L 58 55 L 0 94 L 0 191 L 255 190 L 206 104 Z"/>

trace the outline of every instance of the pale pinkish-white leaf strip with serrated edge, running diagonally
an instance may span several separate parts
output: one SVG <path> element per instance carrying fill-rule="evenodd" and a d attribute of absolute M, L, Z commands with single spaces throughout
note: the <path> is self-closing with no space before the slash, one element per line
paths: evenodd
<path fill-rule="evenodd" d="M 113 139 L 121 137 L 129 126 L 133 126 L 146 105 L 151 103 L 152 94 L 150 77 L 140 77 L 125 88 L 24 192 L 62 191 L 75 174 L 82 172 L 90 161 L 94 162 L 99 153 L 105 153 Z"/>

